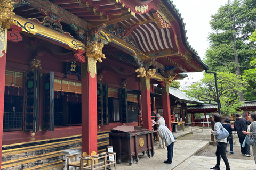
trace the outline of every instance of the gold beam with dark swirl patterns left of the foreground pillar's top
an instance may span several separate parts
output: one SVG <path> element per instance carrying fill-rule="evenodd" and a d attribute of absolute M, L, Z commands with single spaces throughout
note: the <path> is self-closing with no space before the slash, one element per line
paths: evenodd
<path fill-rule="evenodd" d="M 63 35 L 62 33 L 52 30 L 50 28 L 44 27 L 36 22 L 22 18 L 21 16 L 14 16 L 14 20 L 17 22 L 19 27 L 22 27 L 22 31 L 28 36 L 35 35 L 40 39 L 44 39 L 51 43 L 60 45 L 66 49 L 70 50 L 85 50 L 85 45 L 81 41 L 71 38 L 69 36 Z"/>

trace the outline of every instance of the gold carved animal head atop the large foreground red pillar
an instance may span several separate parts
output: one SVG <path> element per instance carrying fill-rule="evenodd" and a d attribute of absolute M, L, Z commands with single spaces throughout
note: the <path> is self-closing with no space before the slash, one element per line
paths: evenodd
<path fill-rule="evenodd" d="M 104 47 L 103 44 L 101 43 L 92 43 L 92 44 L 87 44 L 85 52 L 86 52 L 86 57 L 93 57 L 95 58 L 98 62 L 102 62 L 102 59 L 106 59 L 105 55 L 102 54 L 102 48 Z"/>

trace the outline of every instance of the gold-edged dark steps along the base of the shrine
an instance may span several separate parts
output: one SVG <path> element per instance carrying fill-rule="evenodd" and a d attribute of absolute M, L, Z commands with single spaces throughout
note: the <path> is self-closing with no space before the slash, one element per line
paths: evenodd
<path fill-rule="evenodd" d="M 109 132 L 98 133 L 98 152 L 109 146 Z M 60 170 L 63 168 L 61 151 L 71 148 L 81 148 L 81 135 L 6 145 L 2 147 L 2 169 Z"/>

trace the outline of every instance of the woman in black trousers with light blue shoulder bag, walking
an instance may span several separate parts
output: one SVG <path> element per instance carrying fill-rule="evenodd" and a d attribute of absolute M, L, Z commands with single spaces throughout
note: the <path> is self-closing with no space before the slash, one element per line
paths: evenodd
<path fill-rule="evenodd" d="M 211 130 L 211 133 L 214 136 L 217 136 L 217 135 L 220 134 L 220 130 L 222 128 L 222 125 L 220 123 L 221 116 L 218 113 L 213 113 L 212 121 L 214 122 L 214 130 Z M 213 168 L 210 168 L 210 169 L 220 170 L 220 157 L 221 157 L 223 159 L 225 165 L 226 165 L 226 170 L 230 170 L 230 166 L 229 166 L 229 163 L 228 163 L 228 158 L 226 156 L 226 151 L 225 151 L 227 138 L 223 138 L 221 140 L 218 140 L 216 138 L 216 141 L 218 143 L 217 144 L 217 149 L 216 149 L 216 152 L 215 152 L 217 163 Z"/>

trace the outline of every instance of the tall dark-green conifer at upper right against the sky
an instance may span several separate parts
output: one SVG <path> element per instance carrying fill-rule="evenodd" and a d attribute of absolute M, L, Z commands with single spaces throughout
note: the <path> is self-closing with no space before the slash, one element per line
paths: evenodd
<path fill-rule="evenodd" d="M 249 32 L 255 27 L 254 13 L 248 13 L 255 0 L 228 1 L 221 6 L 210 21 L 213 33 L 209 34 L 210 47 L 206 52 L 206 64 L 211 71 L 232 72 L 241 75 L 247 70 L 253 57 Z M 250 23 L 250 27 L 248 24 Z M 244 100 L 243 91 L 239 99 Z"/>

